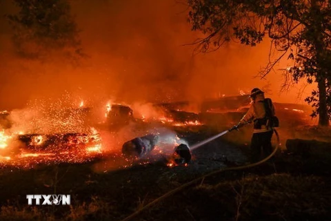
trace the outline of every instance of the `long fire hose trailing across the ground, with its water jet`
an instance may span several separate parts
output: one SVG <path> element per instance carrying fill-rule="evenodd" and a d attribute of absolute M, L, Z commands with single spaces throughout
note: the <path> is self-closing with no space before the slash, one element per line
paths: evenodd
<path fill-rule="evenodd" d="M 243 125 L 245 125 L 245 124 L 243 124 Z M 241 126 L 243 126 L 243 125 L 241 125 Z M 233 131 L 234 129 L 237 130 L 238 128 L 239 128 L 239 126 L 234 126 L 234 127 L 230 128 L 228 131 L 223 131 L 222 133 L 219 133 L 217 135 L 214 135 L 214 137 L 210 137 L 208 140 L 205 140 L 203 142 L 200 142 L 198 144 L 195 144 L 192 147 L 193 148 L 197 148 L 199 146 L 202 146 L 203 144 L 206 144 L 208 142 L 211 142 L 212 140 L 215 140 L 218 137 L 221 137 L 222 135 L 225 135 L 226 133 L 229 133 L 230 131 Z M 198 181 L 204 180 L 205 177 L 210 177 L 211 175 L 216 175 L 216 174 L 221 173 L 221 172 L 224 172 L 224 171 L 239 171 L 239 170 L 242 170 L 242 169 L 248 169 L 248 168 L 251 168 L 251 167 L 254 167 L 254 166 L 258 166 L 259 164 L 263 164 L 264 162 L 268 161 L 277 152 L 277 150 L 279 148 L 279 142 L 280 142 L 280 140 L 279 140 L 279 134 L 276 131 L 276 129 L 273 129 L 273 131 L 274 131 L 274 133 L 275 133 L 275 135 L 277 137 L 277 145 L 275 146 L 274 151 L 272 151 L 272 153 L 270 155 L 268 155 L 268 157 L 265 157 L 263 160 L 260 160 L 259 162 L 255 162 L 255 163 L 248 164 L 248 165 L 233 166 L 233 167 L 228 167 L 228 168 L 224 168 L 224 169 L 219 169 L 217 171 L 212 171 L 210 173 L 207 173 L 205 175 L 202 175 L 201 177 L 198 177 L 198 178 L 196 178 L 196 179 L 194 179 L 194 180 L 192 180 L 190 182 L 187 182 L 185 184 L 182 184 L 181 186 L 179 186 L 179 187 L 177 187 L 175 189 L 172 189 L 172 191 L 168 191 L 167 193 L 161 195 L 159 198 L 157 198 L 157 199 L 153 200 L 152 202 L 146 204 L 146 206 L 141 207 L 141 209 L 135 211 L 134 213 L 132 213 L 131 215 L 129 215 L 128 217 L 124 218 L 121 221 L 131 220 L 132 218 L 134 218 L 137 215 L 139 215 L 145 209 L 148 209 L 151 206 L 153 206 L 154 204 L 157 204 L 157 202 L 160 202 L 161 200 L 164 200 L 165 198 L 168 198 L 170 195 L 172 195 L 174 193 L 177 193 L 177 192 L 181 191 L 182 189 L 185 189 L 186 187 L 191 186 L 192 184 L 197 183 Z"/>

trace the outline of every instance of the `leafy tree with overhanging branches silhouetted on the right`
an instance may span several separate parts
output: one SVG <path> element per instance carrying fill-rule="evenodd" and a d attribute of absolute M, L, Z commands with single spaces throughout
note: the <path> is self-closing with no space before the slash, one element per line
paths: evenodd
<path fill-rule="evenodd" d="M 268 75 L 280 59 L 288 56 L 293 66 L 285 70 L 294 82 L 305 78 L 317 82 L 318 90 L 305 99 L 319 115 L 319 125 L 328 126 L 331 117 L 331 7 L 328 0 L 188 0 L 188 21 L 200 30 L 202 52 L 217 50 L 223 43 L 239 39 L 256 46 L 265 37 L 271 50 L 280 53 L 261 71 Z M 271 54 L 271 53 L 270 53 Z M 270 55 L 271 56 L 271 55 Z"/>

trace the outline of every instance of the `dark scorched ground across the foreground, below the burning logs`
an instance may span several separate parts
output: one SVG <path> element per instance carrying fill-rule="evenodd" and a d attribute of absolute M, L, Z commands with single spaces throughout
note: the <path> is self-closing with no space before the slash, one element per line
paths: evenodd
<path fill-rule="evenodd" d="M 177 132 L 194 144 L 222 128 L 187 131 Z M 188 166 L 168 167 L 160 159 L 103 171 L 116 158 L 110 155 L 86 164 L 1 169 L 0 220 L 122 220 L 185 182 L 247 163 L 248 142 L 245 130 L 234 131 L 194 150 Z M 206 177 L 132 220 L 331 220 L 330 164 L 330 153 L 279 152 L 274 163 Z M 28 206 L 27 194 L 70 194 L 71 205 Z"/>

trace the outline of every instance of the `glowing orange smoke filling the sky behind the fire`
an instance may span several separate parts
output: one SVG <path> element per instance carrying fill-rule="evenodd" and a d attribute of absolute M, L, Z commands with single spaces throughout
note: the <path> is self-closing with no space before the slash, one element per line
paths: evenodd
<path fill-rule="evenodd" d="M 217 52 L 192 55 L 197 37 L 186 22 L 187 7 L 169 0 L 71 1 L 81 28 L 84 52 L 79 66 L 52 55 L 52 62 L 21 59 L 10 41 L 10 26 L 0 24 L 0 108 L 26 106 L 30 99 L 56 99 L 68 91 L 83 100 L 116 97 L 128 103 L 201 101 L 239 90 L 268 86 L 279 102 L 298 102 L 301 86 L 278 96 L 279 71 L 267 80 L 254 78 L 268 62 L 270 42 L 251 48 L 228 44 Z M 1 15 L 14 12 L 1 1 Z M 284 68 L 286 61 L 279 64 Z M 277 69 L 277 68 L 276 68 Z M 306 88 L 309 93 L 310 88 Z M 305 97 L 305 95 L 303 95 Z"/>

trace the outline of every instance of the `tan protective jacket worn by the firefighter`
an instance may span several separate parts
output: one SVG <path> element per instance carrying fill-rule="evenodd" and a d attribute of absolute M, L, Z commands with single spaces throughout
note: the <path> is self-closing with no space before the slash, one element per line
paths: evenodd
<path fill-rule="evenodd" d="M 267 100 L 268 104 L 266 105 L 265 102 Z M 268 110 L 266 108 L 268 108 Z M 244 124 L 246 122 L 254 122 L 253 133 L 272 131 L 273 128 L 268 126 L 267 113 L 270 116 L 274 116 L 274 105 L 272 104 L 271 99 L 265 99 L 263 93 L 260 93 L 256 95 L 256 98 L 248 109 L 248 112 L 243 116 L 239 123 Z"/>

